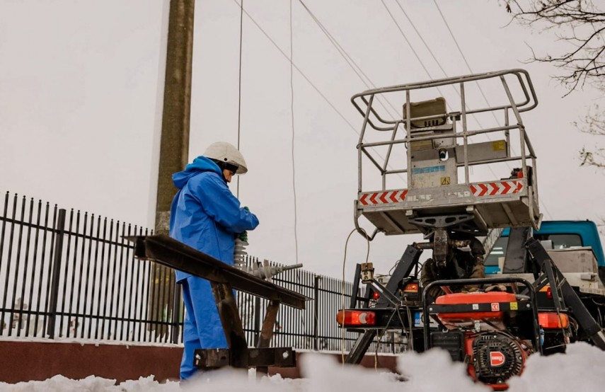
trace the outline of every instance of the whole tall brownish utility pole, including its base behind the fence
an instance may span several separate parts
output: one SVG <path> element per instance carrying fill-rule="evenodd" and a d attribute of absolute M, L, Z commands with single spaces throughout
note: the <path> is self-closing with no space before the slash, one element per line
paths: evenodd
<path fill-rule="evenodd" d="M 189 160 L 194 10 L 195 0 L 170 0 L 156 234 L 168 234 L 170 207 L 176 194 L 172 174 L 182 171 Z M 176 289 L 172 270 L 156 263 L 151 265 L 148 317 L 156 323 L 151 323 L 150 329 L 155 330 L 156 335 L 163 336 L 168 333 L 168 323 L 180 318 L 180 289 Z M 178 332 L 174 335 L 178 336 Z M 176 342 L 175 336 L 173 342 Z"/>

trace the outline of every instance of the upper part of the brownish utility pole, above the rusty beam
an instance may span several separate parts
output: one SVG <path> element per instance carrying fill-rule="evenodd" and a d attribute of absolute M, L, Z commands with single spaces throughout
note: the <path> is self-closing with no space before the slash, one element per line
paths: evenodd
<path fill-rule="evenodd" d="M 172 174 L 189 160 L 191 64 L 195 0 L 171 0 L 162 134 L 156 202 L 156 234 L 168 234 L 170 206 L 176 189 Z"/>

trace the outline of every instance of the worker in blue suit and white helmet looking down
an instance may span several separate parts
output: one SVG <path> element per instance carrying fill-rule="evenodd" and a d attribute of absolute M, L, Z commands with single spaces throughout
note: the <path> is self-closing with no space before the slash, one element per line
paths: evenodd
<path fill-rule="evenodd" d="M 247 230 L 258 218 L 240 207 L 227 183 L 235 174 L 248 171 L 241 153 L 226 142 L 208 146 L 184 171 L 174 173 L 178 188 L 171 205 L 170 236 L 222 262 L 234 264 L 236 238 L 246 241 Z M 205 348 L 228 348 L 214 302 L 210 282 L 182 271 L 176 272 L 185 302 L 183 361 L 180 379 L 193 376 L 193 352 Z"/>

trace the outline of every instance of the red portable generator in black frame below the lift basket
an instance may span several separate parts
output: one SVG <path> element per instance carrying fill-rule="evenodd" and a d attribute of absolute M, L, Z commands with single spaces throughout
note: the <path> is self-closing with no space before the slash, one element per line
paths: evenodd
<path fill-rule="evenodd" d="M 454 361 L 468 365 L 468 374 L 496 391 L 508 388 L 506 381 L 522 374 L 526 358 L 542 352 L 536 293 L 525 279 L 459 279 L 437 281 L 430 286 L 507 284 L 507 292 L 461 292 L 423 301 L 425 347 L 441 347 Z M 526 287 L 519 294 L 519 285 Z M 425 288 L 425 293 L 427 292 Z M 509 292 L 510 291 L 510 292 Z M 426 296 L 426 294 L 425 294 Z"/>

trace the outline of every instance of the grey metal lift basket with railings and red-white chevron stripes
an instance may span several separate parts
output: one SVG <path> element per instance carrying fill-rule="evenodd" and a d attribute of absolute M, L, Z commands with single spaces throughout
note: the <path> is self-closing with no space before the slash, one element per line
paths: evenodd
<path fill-rule="evenodd" d="M 468 108 L 466 85 L 494 79 L 499 81 L 503 90 L 504 104 Z M 510 81 L 517 83 L 515 92 L 521 92 L 521 99 L 513 97 Z M 412 113 L 411 94 L 415 91 L 435 89 L 451 85 L 457 88 L 459 104 L 455 110 L 441 113 Z M 427 90 L 431 91 L 431 90 Z M 401 117 L 388 119 L 388 113 L 381 112 L 376 103 L 389 93 L 403 93 L 405 100 Z M 502 91 L 501 91 L 502 93 Z M 435 93 L 437 96 L 437 93 Z M 440 99 L 440 98 L 437 98 Z M 422 232 L 415 229 L 410 217 L 466 214 L 471 209 L 474 226 L 480 235 L 489 229 L 505 226 L 539 226 L 541 215 L 538 208 L 536 175 L 536 154 L 526 133 L 521 113 L 537 105 L 534 87 L 529 74 L 522 69 L 474 74 L 454 78 L 439 79 L 420 83 L 409 83 L 387 88 L 376 88 L 352 97 L 355 108 L 364 115 L 362 131 L 359 134 L 358 149 L 358 195 L 355 202 L 355 224 L 366 216 L 376 226 L 376 231 L 385 234 L 408 234 Z M 486 100 L 487 103 L 487 100 Z M 492 113 L 503 115 L 503 125 L 469 129 L 468 115 Z M 509 118 L 514 116 L 514 121 Z M 449 122 L 448 122 L 449 121 Z M 424 126 L 418 123 L 424 122 Z M 373 129 L 372 137 L 377 142 L 369 142 L 367 131 Z M 401 132 L 405 132 L 403 137 Z M 511 132 L 515 132 L 511 135 Z M 518 134 L 517 134 L 518 132 Z M 386 137 L 381 137 L 384 134 Z M 476 142 L 478 135 L 503 134 L 504 139 L 489 142 Z M 511 153 L 512 139 L 519 143 L 519 154 Z M 471 140 L 472 139 L 472 140 Z M 489 139 L 489 137 L 488 137 Z M 471 141 L 473 143 L 471 143 Z M 459 144 L 460 142 L 460 144 Z M 406 164 L 391 159 L 393 146 L 405 146 Z M 439 148 L 442 146 L 442 148 Z M 386 156 L 376 152 L 377 147 L 386 147 Z M 384 151 L 384 150 L 383 150 Z M 439 151 L 439 158 L 437 156 Z M 425 158 L 418 158 L 419 156 Z M 420 159 L 446 161 L 446 169 L 439 166 L 418 167 Z M 365 190 L 363 185 L 364 161 L 369 160 L 381 175 L 381 189 Z M 414 161 L 415 160 L 415 161 Z M 518 178 L 494 178 L 489 181 L 472 183 L 469 175 L 471 166 L 486 166 L 495 163 L 519 162 Z M 439 183 L 439 173 L 425 175 L 434 168 L 446 171 Z M 458 168 L 463 168 L 463 180 L 458 180 Z M 490 166 L 490 170 L 491 166 Z M 493 173 L 493 170 L 492 170 Z M 387 189 L 387 175 L 406 174 L 407 188 Z M 502 177 L 502 176 L 501 176 Z M 421 178 L 419 180 L 419 178 Z M 433 178 L 430 181 L 423 178 Z M 429 192 L 430 191 L 430 192 Z M 437 197 L 436 197 L 437 195 Z M 482 217 L 483 215 L 483 217 Z M 495 219 L 491 219 L 495 217 Z M 360 231 L 361 232 L 361 231 Z"/>

